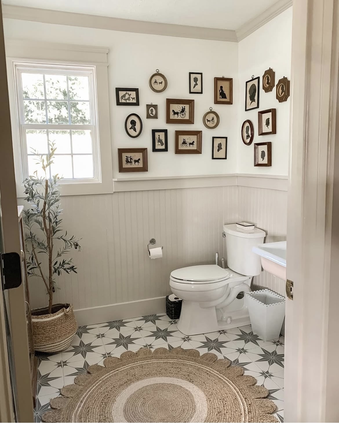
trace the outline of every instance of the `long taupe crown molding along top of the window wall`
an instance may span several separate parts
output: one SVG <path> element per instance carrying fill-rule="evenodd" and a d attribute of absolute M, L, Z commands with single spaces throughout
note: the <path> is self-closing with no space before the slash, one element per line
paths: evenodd
<path fill-rule="evenodd" d="M 88 15 L 25 6 L 4 4 L 3 17 L 32 22 L 134 32 L 140 34 L 231 41 L 235 43 L 238 42 L 236 31 L 234 30 L 145 22 L 132 19 L 120 19 L 109 16 Z M 133 30 L 131 30 L 131 28 L 133 28 Z"/>

